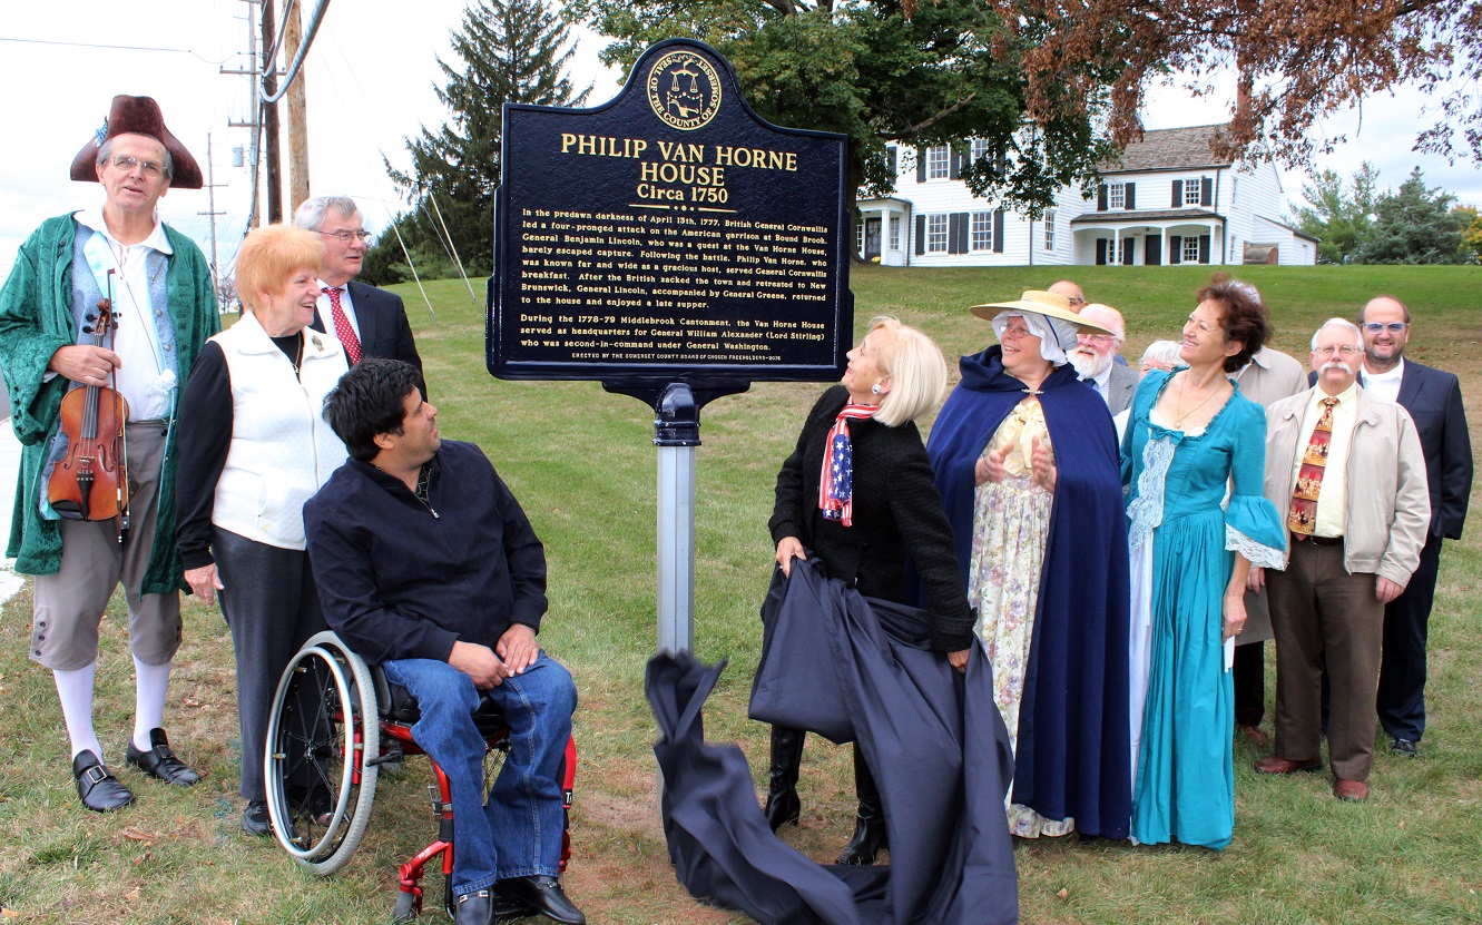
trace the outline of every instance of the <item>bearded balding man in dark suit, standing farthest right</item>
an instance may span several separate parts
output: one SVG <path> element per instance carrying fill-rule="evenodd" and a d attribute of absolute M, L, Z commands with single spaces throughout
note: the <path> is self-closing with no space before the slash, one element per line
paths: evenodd
<path fill-rule="evenodd" d="M 1426 631 L 1436 596 L 1443 538 L 1460 540 L 1472 495 L 1472 439 L 1461 385 L 1449 372 L 1405 359 L 1409 308 L 1380 295 L 1359 311 L 1363 374 L 1369 397 L 1398 402 L 1415 421 L 1430 482 L 1430 531 L 1405 593 L 1384 608 L 1378 716 L 1396 755 L 1414 757 L 1426 731 Z"/>

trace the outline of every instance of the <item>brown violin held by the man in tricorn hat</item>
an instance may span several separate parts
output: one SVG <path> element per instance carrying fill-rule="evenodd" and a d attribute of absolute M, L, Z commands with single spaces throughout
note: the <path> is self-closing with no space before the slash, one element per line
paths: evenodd
<path fill-rule="evenodd" d="M 84 317 L 83 334 L 93 347 L 104 347 L 113 332 L 113 270 L 108 296 L 98 299 L 95 314 Z M 73 388 L 62 397 L 61 430 L 67 455 L 52 470 L 47 501 L 67 520 L 119 519 L 119 541 L 129 529 L 129 473 L 124 467 L 123 425 L 129 403 L 107 385 Z"/>

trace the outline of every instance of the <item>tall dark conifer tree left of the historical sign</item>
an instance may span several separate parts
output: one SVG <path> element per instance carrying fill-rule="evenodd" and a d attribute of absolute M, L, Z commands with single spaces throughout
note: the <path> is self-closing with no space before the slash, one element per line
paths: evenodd
<path fill-rule="evenodd" d="M 459 62 L 437 59 L 448 79 L 437 98 L 449 108 L 449 122 L 436 130 L 424 126 L 418 138 L 406 139 L 409 170 L 387 162 L 391 181 L 412 206 L 396 224 L 413 259 L 446 259 L 449 268 L 461 261 L 470 276 L 492 270 L 501 107 L 579 105 L 590 87 L 574 92 L 562 76 L 576 50 L 569 39 L 569 27 L 542 0 L 473 0 L 464 10 L 462 28 L 452 34 Z M 388 230 L 366 256 L 366 276 L 372 282 L 405 279 L 403 261 Z"/>

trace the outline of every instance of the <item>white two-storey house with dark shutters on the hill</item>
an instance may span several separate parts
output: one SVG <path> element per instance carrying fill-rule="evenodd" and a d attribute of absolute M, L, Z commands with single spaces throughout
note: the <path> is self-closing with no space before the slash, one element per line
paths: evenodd
<path fill-rule="evenodd" d="M 891 267 L 1315 264 L 1317 240 L 1279 218 L 1276 168 L 1211 153 L 1221 127 L 1146 132 L 1120 163 L 1103 168 L 1094 199 L 1060 190 L 1034 221 L 972 196 L 959 179 L 984 142 L 966 151 L 892 148 L 894 196 L 860 200 L 855 246 Z"/>

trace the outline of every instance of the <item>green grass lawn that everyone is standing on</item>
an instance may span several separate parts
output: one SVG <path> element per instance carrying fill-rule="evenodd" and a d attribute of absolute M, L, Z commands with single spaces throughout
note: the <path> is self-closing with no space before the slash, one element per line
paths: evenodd
<path fill-rule="evenodd" d="M 1193 267 L 1076 268 L 1097 301 L 1128 317 L 1126 353 L 1177 334 L 1206 271 Z M 1466 301 L 1482 270 L 1251 267 L 1276 308 L 1276 345 L 1306 357 L 1326 317 L 1393 292 L 1415 311 L 1409 354 L 1461 375 L 1482 421 L 1479 317 Z M 1042 288 L 1052 270 L 857 270 L 857 320 L 891 313 L 938 338 L 948 356 L 980 350 L 975 302 Z M 594 924 L 735 924 L 674 882 L 657 821 L 654 722 L 643 664 L 655 645 L 655 454 L 652 412 L 594 382 L 502 382 L 485 371 L 483 308 L 461 282 L 428 285 L 436 319 L 406 288 L 442 431 L 474 440 L 525 504 L 550 559 L 551 615 L 541 639 L 581 688 L 571 894 Z M 766 587 L 772 480 L 820 384 L 759 384 L 707 406 L 697 455 L 695 637 L 731 667 L 711 697 L 708 731 L 740 741 L 759 774 L 766 731 L 745 719 L 759 654 L 756 608 Z M 1482 505 L 1476 505 L 1482 517 Z M 1478 528 L 1446 544 L 1430 634 L 1430 728 L 1418 760 L 1380 750 L 1365 805 L 1338 803 L 1320 775 L 1257 778 L 1260 753 L 1236 744 L 1235 842 L 1221 854 L 1076 841 L 1017 848 L 1021 907 L 1033 924 L 1482 922 L 1482 599 Z M 104 623 L 96 722 L 138 802 L 95 815 L 77 805 L 67 737 L 46 672 L 25 658 L 30 591 L 0 612 L 0 906 L 22 922 L 276 924 L 385 922 L 396 866 L 433 835 L 427 772 L 412 759 L 376 795 L 366 842 L 330 878 L 302 873 L 276 845 L 239 832 L 240 798 L 230 634 L 215 609 L 185 606 L 167 725 L 205 780 L 190 790 L 123 766 L 132 726 L 132 666 L 116 597 Z M 1270 649 L 1269 649 L 1270 651 Z M 1275 677 L 1275 667 L 1269 669 Z M 1275 686 L 1269 683 L 1269 697 Z M 831 858 L 848 838 L 848 749 L 811 738 L 803 824 L 785 838 Z M 760 781 L 760 777 L 759 777 Z M 428 906 L 440 901 L 430 883 Z M 439 921 L 437 913 L 430 921 Z"/>

